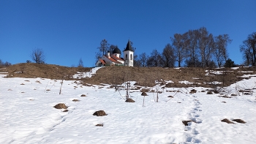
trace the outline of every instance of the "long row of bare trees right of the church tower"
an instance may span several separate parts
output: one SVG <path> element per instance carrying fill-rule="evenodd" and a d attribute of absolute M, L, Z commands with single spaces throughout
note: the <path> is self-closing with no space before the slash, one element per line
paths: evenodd
<path fill-rule="evenodd" d="M 228 60 L 227 45 L 232 42 L 228 34 L 214 37 L 205 27 L 174 34 L 171 43 L 160 53 L 154 49 L 150 56 L 141 53 L 135 59 L 138 67 L 222 67 Z"/>

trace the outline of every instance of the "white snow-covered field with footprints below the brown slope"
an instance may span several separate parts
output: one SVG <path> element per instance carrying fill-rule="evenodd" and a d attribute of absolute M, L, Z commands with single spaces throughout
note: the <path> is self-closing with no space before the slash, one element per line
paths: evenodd
<path fill-rule="evenodd" d="M 130 91 L 135 102 L 129 103 L 124 102 L 126 91 L 108 85 L 64 80 L 59 94 L 61 80 L 3 76 L 0 143 L 256 143 L 256 91 L 224 98 L 206 94 L 207 88 L 195 88 L 195 94 L 189 94 L 192 88 L 165 88 L 159 102 L 154 102 L 156 93 L 148 92 L 143 107 L 140 90 Z M 227 94 L 256 88 L 255 82 L 256 77 L 242 80 L 226 88 Z M 67 105 L 68 112 L 54 108 L 59 103 Z M 93 115 L 97 110 L 108 115 Z M 246 124 L 227 124 L 224 118 L 240 118 Z M 182 121 L 188 120 L 195 122 L 184 126 Z"/>

